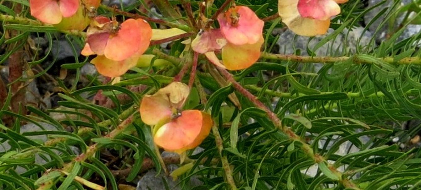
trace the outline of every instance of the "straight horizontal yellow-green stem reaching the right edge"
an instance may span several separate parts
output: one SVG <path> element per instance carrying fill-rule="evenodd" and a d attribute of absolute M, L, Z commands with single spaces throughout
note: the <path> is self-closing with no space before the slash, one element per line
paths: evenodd
<path fill-rule="evenodd" d="M 281 60 L 281 61 L 293 61 L 293 62 L 300 62 L 300 63 L 336 63 L 340 61 L 347 61 L 352 57 L 347 56 L 340 56 L 340 57 L 312 57 L 312 56 L 298 56 L 298 55 L 282 55 L 282 54 L 274 54 L 274 53 L 265 53 L 262 52 L 260 58 L 269 59 L 269 60 Z M 354 63 L 359 64 L 371 64 L 372 61 L 368 61 L 365 59 L 358 58 L 357 56 L 352 58 Z M 389 63 L 389 64 L 399 64 L 399 65 L 408 65 L 408 64 L 415 64 L 421 65 L 421 58 L 419 57 L 409 57 L 403 58 L 399 61 L 394 61 L 393 57 L 384 57 L 378 58 L 382 61 Z"/>

